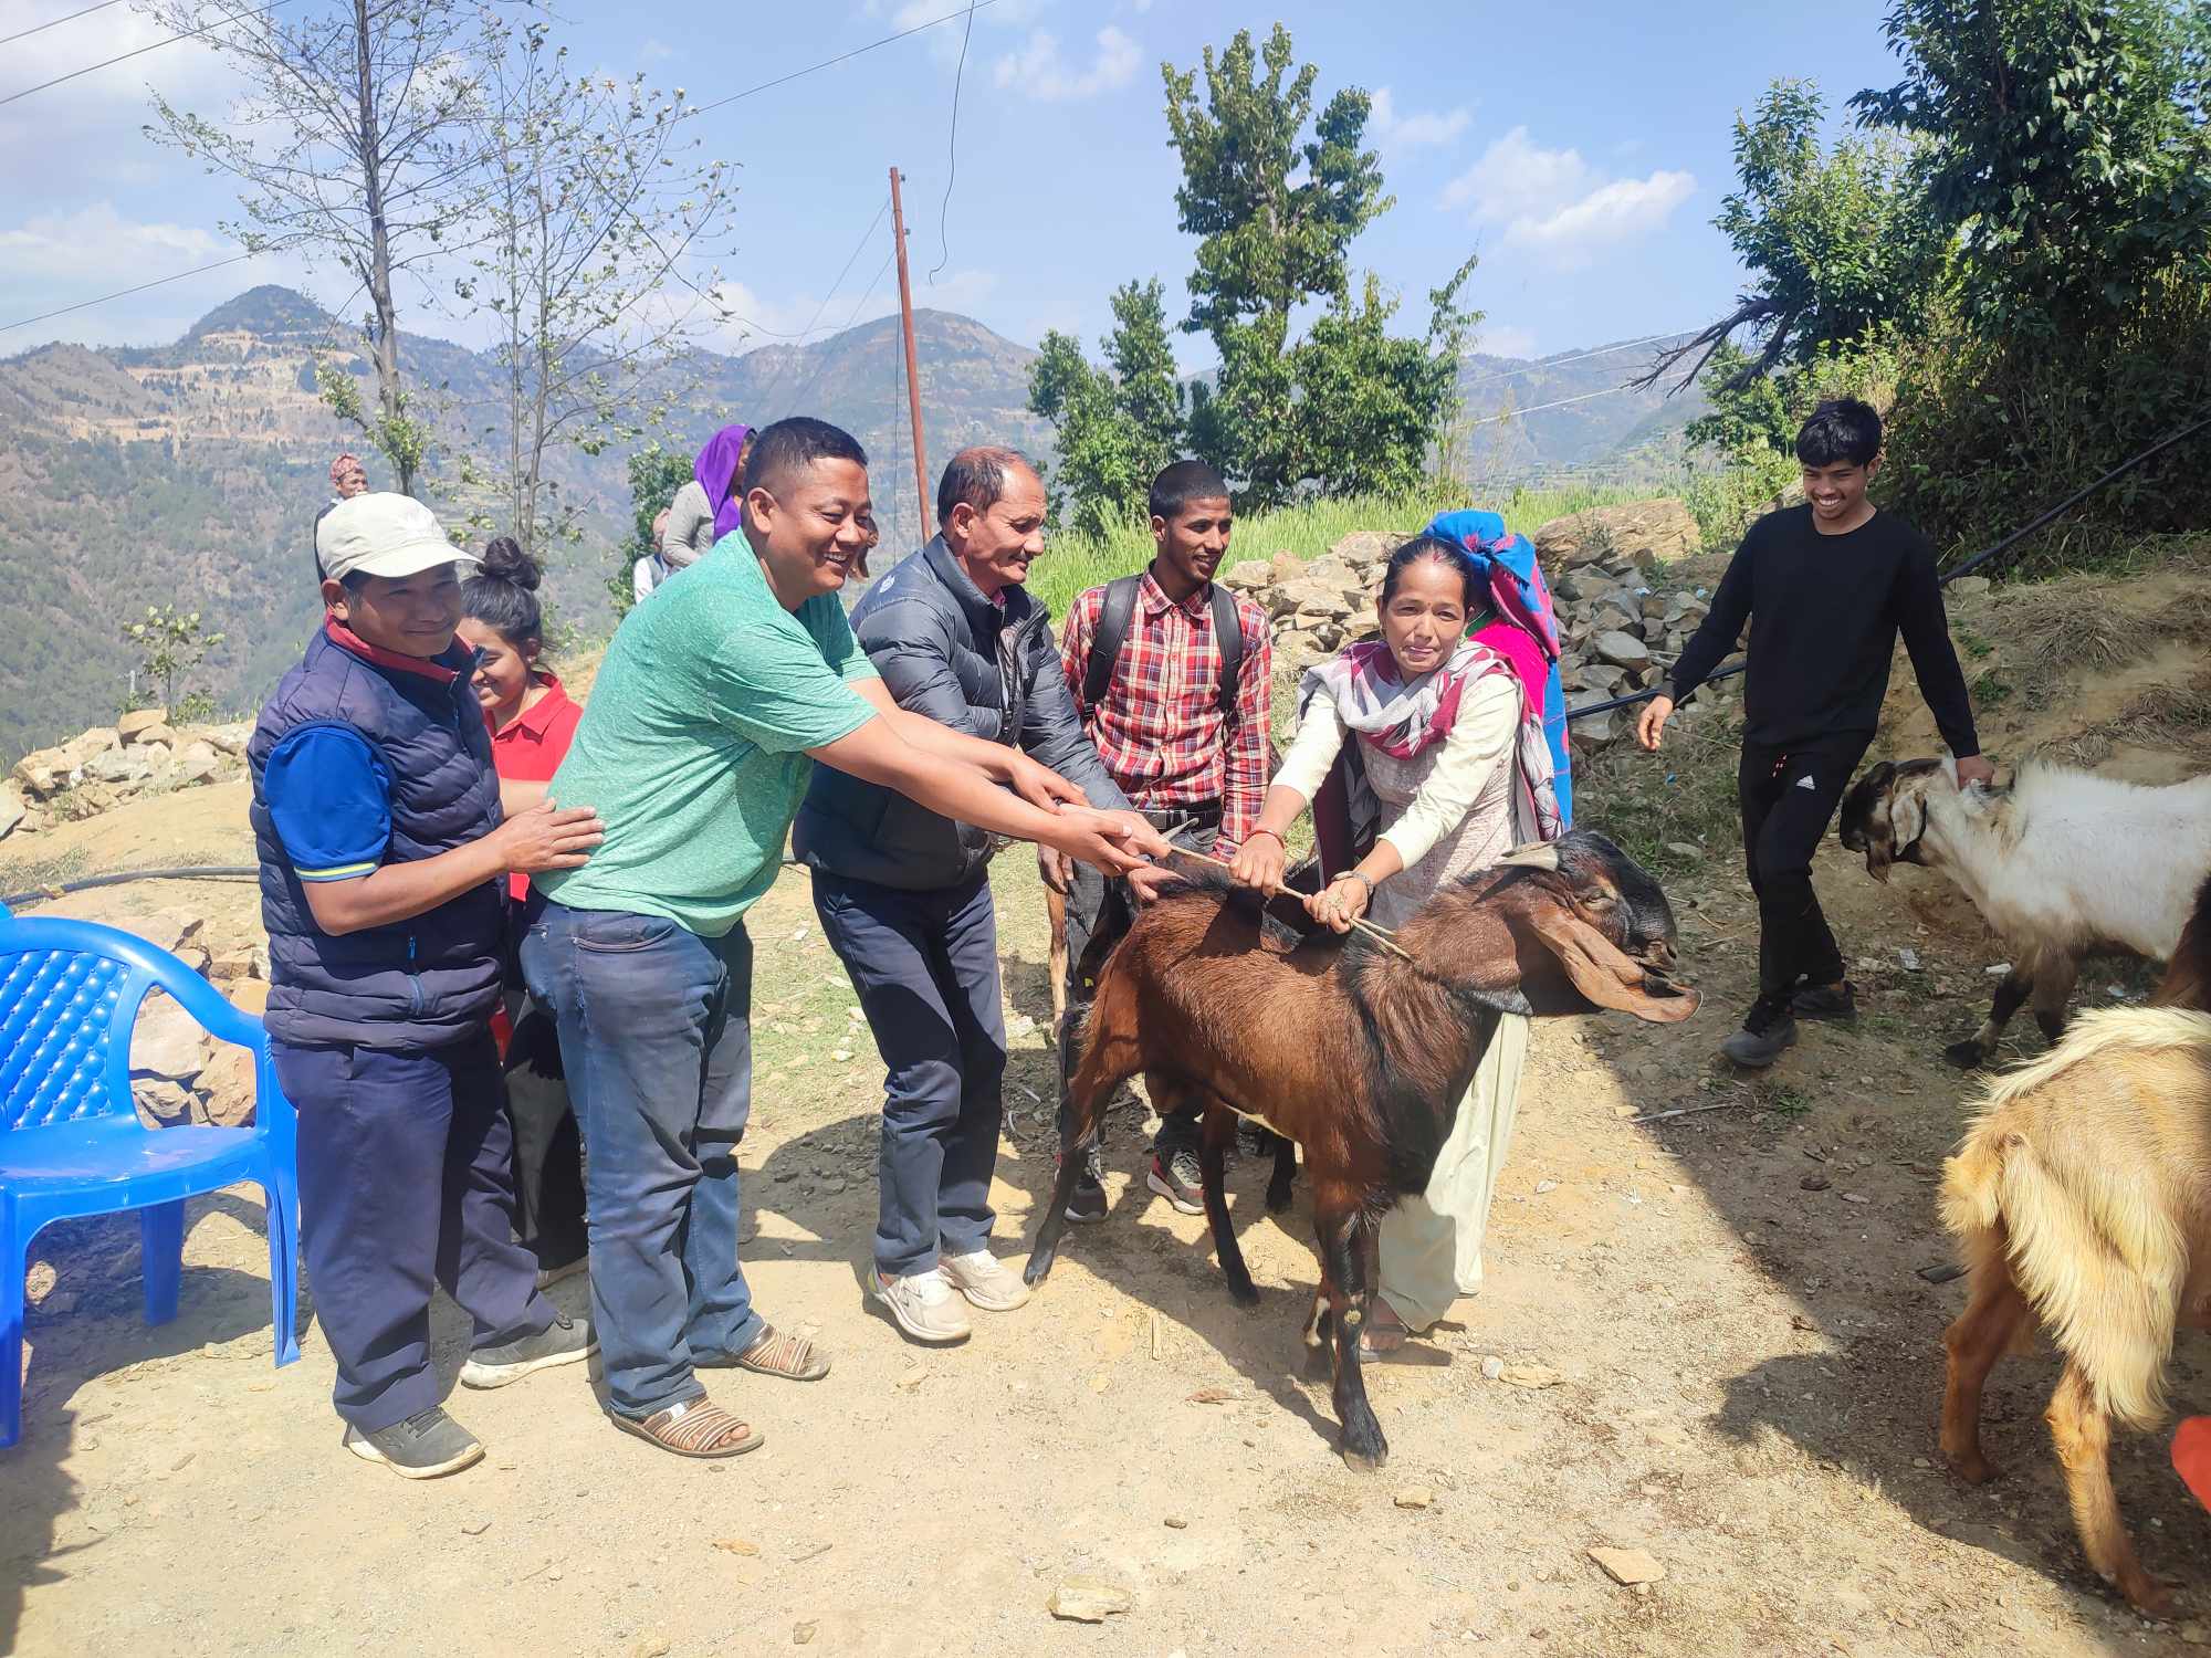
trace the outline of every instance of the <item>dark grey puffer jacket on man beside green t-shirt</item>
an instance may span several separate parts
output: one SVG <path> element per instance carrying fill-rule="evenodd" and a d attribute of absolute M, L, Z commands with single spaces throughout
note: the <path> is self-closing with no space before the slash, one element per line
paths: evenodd
<path fill-rule="evenodd" d="M 851 630 L 909 714 L 926 714 L 986 743 L 1019 745 L 1094 807 L 1128 805 L 1083 734 L 1050 612 L 1024 588 L 1006 588 L 1004 606 L 991 604 L 942 535 L 860 599 Z M 937 891 L 957 886 L 988 862 L 991 836 L 895 789 L 818 765 L 792 829 L 792 849 L 809 869 L 902 891 Z"/>

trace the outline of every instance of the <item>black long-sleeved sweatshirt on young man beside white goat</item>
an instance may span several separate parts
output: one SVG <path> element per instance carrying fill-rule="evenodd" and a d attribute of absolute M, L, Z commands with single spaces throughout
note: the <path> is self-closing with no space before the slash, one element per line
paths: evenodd
<path fill-rule="evenodd" d="M 1981 752 L 1966 674 L 1950 650 L 1935 548 L 1895 513 L 1875 513 L 1848 535 L 1813 528 L 1809 504 L 1751 524 L 1720 577 L 1711 615 L 1674 663 L 1667 696 L 1683 701 L 1720 665 L 1744 617 L 1751 621 L 1744 745 L 1871 741 L 1901 630 L 1919 694 L 1950 754 Z"/>

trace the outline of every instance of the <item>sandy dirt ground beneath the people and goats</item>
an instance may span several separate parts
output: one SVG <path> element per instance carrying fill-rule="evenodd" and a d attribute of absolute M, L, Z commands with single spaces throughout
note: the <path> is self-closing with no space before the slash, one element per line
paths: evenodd
<path fill-rule="evenodd" d="M 1694 595 L 1714 570 L 1660 575 Z M 2145 584 L 2145 606 L 2169 615 L 2211 577 Z M 2023 683 L 2043 661 L 2016 606 L 2003 590 L 1961 606 L 1959 628 L 1985 643 L 1968 672 Z M 1656 626 L 1663 639 L 1663 612 Z M 2189 650 L 2182 668 L 2202 668 L 2200 637 L 2142 650 Z M 2140 685 L 2050 679 L 1992 710 L 2001 756 L 2125 736 L 2114 721 Z M 1890 754 L 1924 752 L 1908 683 Z M 2010 1360 L 1990 1388 L 1988 1444 L 2008 1477 L 1968 1490 L 1939 1466 L 1939 1335 L 1963 1287 L 1943 1271 L 1932 1183 L 1972 1083 L 1937 1052 L 1979 1019 L 1999 946 L 1937 880 L 1899 871 L 1882 889 L 1831 844 L 1817 880 L 1864 1019 L 1806 1030 L 1769 1077 L 1716 1063 L 1751 995 L 1756 922 L 1714 827 L 1725 816 L 1691 809 L 1714 798 L 1705 758 L 1605 752 L 1581 814 L 1683 836 L 1667 889 L 1707 1010 L 1676 1028 L 1539 1026 L 1488 1287 L 1371 1375 L 1384 1472 L 1335 1459 L 1327 1377 L 1304 1368 L 1302 1185 L 1278 1220 L 1258 1200 L 1265 1172 L 1232 1172 L 1262 1289 L 1245 1313 L 1203 1218 L 1143 1189 L 1134 1121 L 1112 1127 L 1110 1218 L 1070 1236 L 1030 1307 L 979 1318 L 953 1351 L 918 1351 L 865 1307 L 880 1068 L 805 880 L 787 873 L 752 917 L 745 1258 L 763 1309 L 811 1326 L 836 1371 L 805 1388 L 712 1379 L 765 1430 L 763 1450 L 681 1463 L 612 1433 L 595 1379 L 559 1371 L 458 1393 L 491 1457 L 402 1486 L 338 1450 L 312 1324 L 305 1360 L 270 1366 L 259 1192 L 192 1205 L 184 1307 L 161 1329 L 139 1322 L 128 1220 L 53 1227 L 29 1284 L 27 1437 L 0 1452 L 0 1649 L 2087 1658 L 2211 1645 L 2211 1517 L 2162 1437 L 2123 1437 L 2114 1461 L 2147 1563 L 2184 1583 L 2180 1620 L 2147 1625 L 2085 1574 L 2039 1421 L 2047 1353 Z M 223 785 L 11 840 L 0 889 L 86 864 L 245 860 L 243 789 Z M 1017 851 L 995 889 L 1017 1032 L 995 1200 L 999 1249 L 1019 1256 L 1052 1174 L 1044 922 Z M 40 909 L 148 933 L 197 915 L 181 942 L 210 970 L 254 931 L 245 884 L 144 882 Z M 2083 997 L 2142 982 L 2098 966 Z M 577 1304 L 579 1291 L 555 1293 Z M 464 1342 L 440 1304 L 447 1375 Z M 2182 1337 L 2180 1410 L 2211 1410 L 2204 1355 Z"/>

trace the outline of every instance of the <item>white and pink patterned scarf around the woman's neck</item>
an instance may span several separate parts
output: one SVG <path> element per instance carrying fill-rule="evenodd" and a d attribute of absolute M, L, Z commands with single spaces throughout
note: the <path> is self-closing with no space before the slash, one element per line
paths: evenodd
<path fill-rule="evenodd" d="M 1450 736 L 1468 688 L 1486 674 L 1503 674 L 1512 685 L 1519 703 L 1515 774 L 1526 791 L 1521 805 L 1528 807 L 1537 836 L 1557 840 L 1565 833 L 1565 822 L 1552 783 L 1543 716 L 1530 707 L 1512 663 L 1479 639 L 1461 639 L 1450 661 L 1419 679 L 1400 679 L 1397 659 L 1380 639 L 1346 646 L 1331 661 L 1304 670 L 1298 685 L 1298 714 L 1302 718 L 1316 696 L 1327 696 L 1335 703 L 1338 718 L 1358 732 L 1362 743 L 1371 743 L 1395 760 L 1411 760 Z M 1380 814 L 1380 802 L 1362 767 L 1346 767 L 1346 772 L 1351 822 L 1360 825 Z"/>

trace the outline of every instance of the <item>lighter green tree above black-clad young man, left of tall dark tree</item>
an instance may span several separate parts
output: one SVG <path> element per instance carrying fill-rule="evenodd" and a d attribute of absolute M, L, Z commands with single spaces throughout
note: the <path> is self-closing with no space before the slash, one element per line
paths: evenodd
<path fill-rule="evenodd" d="M 1689 363 L 1683 385 L 1702 376 L 1718 400 L 1744 400 L 1733 416 L 1756 418 L 1764 393 L 1751 387 L 1762 376 L 1919 321 L 1946 237 L 1913 179 L 1910 148 L 1879 133 L 1824 148 L 1824 119 L 1826 102 L 1802 80 L 1773 82 L 1749 117 L 1736 115 L 1738 186 L 1711 223 L 1751 285 L 1636 385 Z M 1738 334 L 1749 349 L 1736 347 Z"/>

